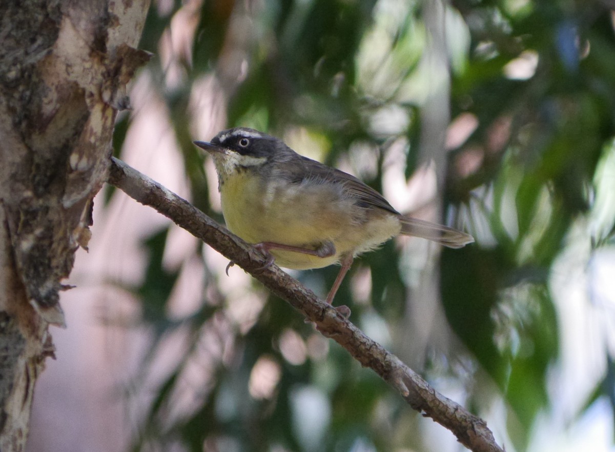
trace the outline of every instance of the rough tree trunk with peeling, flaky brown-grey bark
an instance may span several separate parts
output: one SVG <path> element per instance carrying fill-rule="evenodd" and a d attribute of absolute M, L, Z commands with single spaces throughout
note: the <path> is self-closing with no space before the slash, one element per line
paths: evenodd
<path fill-rule="evenodd" d="M 0 2 L 0 451 L 25 448 L 149 0 Z"/>

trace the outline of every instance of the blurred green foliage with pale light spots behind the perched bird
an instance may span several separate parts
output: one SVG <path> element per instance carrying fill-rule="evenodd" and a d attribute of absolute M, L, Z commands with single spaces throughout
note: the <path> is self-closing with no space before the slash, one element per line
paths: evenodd
<path fill-rule="evenodd" d="M 352 320 L 368 334 L 486 418 L 507 450 L 536 450 L 536 432 L 549 425 L 544 419 L 558 406 L 549 385 L 560 381 L 560 360 L 568 353 L 561 349 L 569 342 L 560 306 L 566 300 L 558 299 L 554 285 L 567 274 L 571 249 L 583 250 L 576 257 L 584 271 L 597 253 L 613 250 L 613 5 L 458 0 L 437 6 L 395 0 L 161 1 L 149 12 L 141 41 L 141 48 L 156 54 L 144 72 L 183 151 L 192 201 L 220 222 L 220 211 L 208 202 L 216 196 L 210 193 L 215 183 L 206 182 L 212 174 L 202 172 L 202 156 L 191 145 L 216 132 L 207 129 L 207 118 L 285 137 L 298 151 L 346 165 L 381 190 L 394 149 L 401 150 L 402 161 L 394 164 L 403 166 L 406 177 L 429 161 L 421 150 L 421 131 L 431 118 L 426 108 L 434 90 L 450 89 L 450 110 L 444 112 L 451 118 L 450 152 L 446 168 L 438 169 L 446 174 L 438 181 L 441 220 L 466 228 L 477 244 L 444 250 L 436 264 L 441 304 L 434 309 L 446 321 L 434 324 L 432 341 L 405 355 L 406 346 L 418 340 L 411 326 L 421 319 L 408 318 L 420 312 L 417 288 L 433 257 L 420 245 L 391 242 L 364 256 L 336 303 L 350 305 Z M 435 25 L 443 23 L 446 30 L 450 75 L 434 73 L 429 64 L 437 52 L 431 46 L 437 41 L 429 13 L 434 7 Z M 182 31 L 183 47 L 177 45 Z M 208 107 L 218 108 L 218 116 L 195 108 L 194 93 L 204 81 L 218 96 Z M 121 118 L 116 150 L 133 118 Z M 210 136 L 200 136 L 204 130 Z M 438 211 L 438 205 L 436 198 L 416 213 L 434 206 Z M 431 421 L 279 300 L 260 305 L 252 322 L 232 321 L 234 301 L 218 288 L 225 277 L 220 268 L 206 268 L 198 309 L 170 316 L 167 304 L 183 268 L 162 264 L 166 230 L 143 246 L 149 251 L 145 278 L 130 290 L 141 302 L 140 321 L 152 340 L 130 385 L 129 396 L 140 401 L 143 414 L 133 450 L 458 447 L 438 439 L 447 433 L 434 435 L 439 427 L 428 426 Z M 192 252 L 186 262 L 202 260 L 200 245 Z M 336 272 L 325 268 L 298 277 L 324 293 Z M 584 283 L 590 293 L 591 281 Z M 256 285 L 253 291 L 257 298 L 267 296 Z M 595 309 L 595 302 L 588 299 L 585 309 Z M 611 309 L 605 308 L 605 321 Z M 143 382 L 164 342 L 178 334 L 185 342 L 177 365 L 143 402 L 133 388 L 151 387 Z M 592 352 L 603 363 L 593 391 L 560 419 L 563 424 L 574 425 L 598 400 L 609 400 L 613 408 L 609 340 L 602 336 Z M 190 383 L 194 366 L 200 379 Z M 259 375 L 261 386 L 255 387 Z"/>

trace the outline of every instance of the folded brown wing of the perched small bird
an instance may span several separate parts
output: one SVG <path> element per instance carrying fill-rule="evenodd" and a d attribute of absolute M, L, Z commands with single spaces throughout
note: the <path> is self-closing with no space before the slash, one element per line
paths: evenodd
<path fill-rule="evenodd" d="M 360 207 L 365 209 L 380 208 L 399 215 L 399 212 L 389 204 L 389 201 L 384 199 L 383 195 L 356 177 L 339 169 L 331 168 L 318 161 L 301 156 L 300 159 L 289 163 L 285 167 L 286 171 L 288 171 L 287 174 L 290 176 L 290 180 L 296 184 L 301 184 L 305 179 L 341 184 L 344 186 L 344 192 L 348 196 L 355 198 L 355 202 Z"/>

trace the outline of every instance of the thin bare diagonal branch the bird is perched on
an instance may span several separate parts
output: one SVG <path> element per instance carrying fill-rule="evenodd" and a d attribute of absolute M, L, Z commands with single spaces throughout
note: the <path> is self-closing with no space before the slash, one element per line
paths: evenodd
<path fill-rule="evenodd" d="M 457 440 L 474 452 L 504 452 L 482 419 L 433 389 L 382 345 L 365 336 L 312 291 L 282 272 L 276 265 L 265 270 L 265 259 L 252 246 L 217 224 L 188 201 L 149 179 L 119 159 L 111 158 L 109 184 L 134 200 L 153 207 L 175 224 L 210 245 L 223 256 L 261 281 L 272 293 L 292 305 L 319 331 L 338 342 L 362 366 L 373 369 L 423 416 L 451 430 Z"/>

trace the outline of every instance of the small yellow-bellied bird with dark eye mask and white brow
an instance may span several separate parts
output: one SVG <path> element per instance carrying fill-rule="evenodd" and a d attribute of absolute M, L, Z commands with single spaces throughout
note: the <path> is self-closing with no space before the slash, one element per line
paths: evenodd
<path fill-rule="evenodd" d="M 236 127 L 194 144 L 213 158 L 226 226 L 263 252 L 265 268 L 274 261 L 295 270 L 341 264 L 329 304 L 354 257 L 393 236 L 422 237 L 449 248 L 474 241 L 464 232 L 400 214 L 356 177 L 299 155 L 263 132 Z M 346 306 L 337 309 L 346 317 L 350 313 Z"/>

